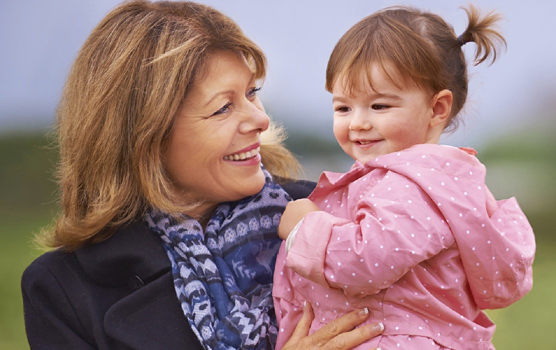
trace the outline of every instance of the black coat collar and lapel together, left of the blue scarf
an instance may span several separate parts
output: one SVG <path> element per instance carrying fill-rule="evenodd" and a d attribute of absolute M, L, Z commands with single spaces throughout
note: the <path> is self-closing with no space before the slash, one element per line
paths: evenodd
<path fill-rule="evenodd" d="M 132 349 L 202 349 L 177 300 L 162 242 L 142 222 L 81 248 L 77 258 L 99 285 L 130 288 L 105 313 L 109 337 Z"/>

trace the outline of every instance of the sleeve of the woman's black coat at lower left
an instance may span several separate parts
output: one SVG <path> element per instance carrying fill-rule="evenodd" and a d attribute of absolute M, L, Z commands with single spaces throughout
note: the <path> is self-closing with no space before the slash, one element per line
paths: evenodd
<path fill-rule="evenodd" d="M 23 317 L 31 349 L 94 349 L 56 276 L 33 262 L 22 276 Z"/>

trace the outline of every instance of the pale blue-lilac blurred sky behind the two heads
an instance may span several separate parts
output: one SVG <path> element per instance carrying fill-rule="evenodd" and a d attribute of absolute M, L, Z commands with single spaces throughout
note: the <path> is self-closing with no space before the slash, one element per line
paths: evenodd
<path fill-rule="evenodd" d="M 0 132 L 47 129 L 77 50 L 118 0 L 0 0 Z M 261 92 L 289 130 L 332 138 L 326 62 L 341 35 L 377 9 L 399 4 L 433 11 L 460 34 L 467 1 L 204 0 L 240 24 L 269 58 Z M 444 142 L 480 146 L 509 129 L 547 121 L 556 108 L 556 2 L 480 0 L 496 9 L 508 50 L 491 67 L 470 67 L 466 125 Z M 474 44 L 465 46 L 468 57 Z M 551 113 L 554 115 L 554 113 Z"/>

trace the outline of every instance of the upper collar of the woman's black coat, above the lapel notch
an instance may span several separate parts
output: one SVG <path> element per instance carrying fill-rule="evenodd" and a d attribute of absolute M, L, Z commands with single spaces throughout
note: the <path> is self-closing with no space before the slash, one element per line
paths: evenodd
<path fill-rule="evenodd" d="M 82 247 L 76 255 L 87 275 L 105 286 L 123 286 L 130 278 L 145 284 L 171 270 L 162 241 L 141 221 Z"/>

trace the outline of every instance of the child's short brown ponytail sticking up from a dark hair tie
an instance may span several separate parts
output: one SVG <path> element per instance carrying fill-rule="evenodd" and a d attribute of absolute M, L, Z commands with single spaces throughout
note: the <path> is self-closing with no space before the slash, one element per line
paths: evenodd
<path fill-rule="evenodd" d="M 477 45 L 474 65 L 479 65 L 488 58 L 490 58 L 490 64 L 493 64 L 499 49 L 506 47 L 506 40 L 496 29 L 497 23 L 503 17 L 491 11 L 481 18 L 479 9 L 472 4 L 462 8 L 467 13 L 469 24 L 463 34 L 458 37 L 459 44 L 463 46 L 466 43 L 474 42 Z"/>

